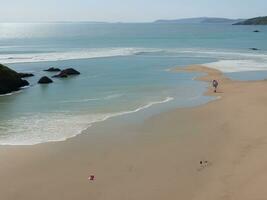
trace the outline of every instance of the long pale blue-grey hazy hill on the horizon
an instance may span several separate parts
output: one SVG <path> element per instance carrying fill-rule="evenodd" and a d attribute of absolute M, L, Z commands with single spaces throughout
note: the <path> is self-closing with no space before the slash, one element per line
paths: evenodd
<path fill-rule="evenodd" d="M 177 23 L 177 24 L 233 24 L 244 21 L 244 19 L 228 19 L 216 17 L 198 17 L 174 20 L 157 20 L 155 23 Z"/>

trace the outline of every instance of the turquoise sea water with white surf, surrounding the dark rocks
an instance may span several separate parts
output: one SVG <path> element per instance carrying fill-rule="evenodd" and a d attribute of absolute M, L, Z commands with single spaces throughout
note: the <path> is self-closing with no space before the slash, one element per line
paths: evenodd
<path fill-rule="evenodd" d="M 0 24 L 0 62 L 35 74 L 29 88 L 0 97 L 0 144 L 61 141 L 110 117 L 207 102 L 207 84 L 193 80 L 199 74 L 170 69 L 207 64 L 232 78 L 264 79 L 266 52 L 266 27 Z M 81 75 L 36 84 L 53 75 L 43 71 L 50 66 Z"/>

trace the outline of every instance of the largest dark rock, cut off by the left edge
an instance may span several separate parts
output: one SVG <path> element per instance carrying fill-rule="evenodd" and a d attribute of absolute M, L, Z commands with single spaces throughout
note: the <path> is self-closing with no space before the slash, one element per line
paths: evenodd
<path fill-rule="evenodd" d="M 7 94 L 29 85 L 28 81 L 21 79 L 19 73 L 0 64 L 0 94 Z"/>

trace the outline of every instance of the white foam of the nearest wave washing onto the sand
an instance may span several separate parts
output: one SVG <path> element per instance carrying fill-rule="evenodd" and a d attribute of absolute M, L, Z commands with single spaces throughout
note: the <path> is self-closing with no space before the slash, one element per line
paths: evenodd
<path fill-rule="evenodd" d="M 80 134 L 96 122 L 111 117 L 135 113 L 156 104 L 173 100 L 167 97 L 162 101 L 150 102 L 134 110 L 105 114 L 73 114 L 73 113 L 38 113 L 2 121 L 0 131 L 1 145 L 34 145 L 52 141 L 64 141 Z M 1 132 L 2 132 L 1 131 Z"/>

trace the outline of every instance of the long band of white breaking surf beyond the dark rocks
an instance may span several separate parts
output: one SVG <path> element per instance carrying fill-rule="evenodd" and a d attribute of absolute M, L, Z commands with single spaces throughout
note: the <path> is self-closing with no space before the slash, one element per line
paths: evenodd
<path fill-rule="evenodd" d="M 223 72 L 267 70 L 267 53 L 250 50 L 225 50 L 201 48 L 95 48 L 66 52 L 34 53 L 34 54 L 1 54 L 0 63 L 25 63 L 60 61 L 73 59 L 104 58 L 114 56 L 162 56 L 162 57 L 200 57 L 217 59 L 207 63 L 209 67 Z"/>

